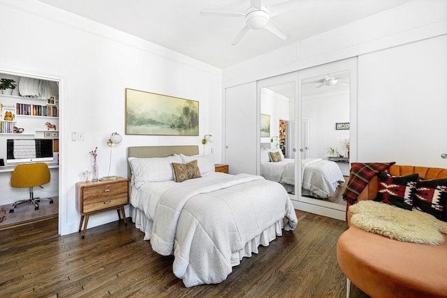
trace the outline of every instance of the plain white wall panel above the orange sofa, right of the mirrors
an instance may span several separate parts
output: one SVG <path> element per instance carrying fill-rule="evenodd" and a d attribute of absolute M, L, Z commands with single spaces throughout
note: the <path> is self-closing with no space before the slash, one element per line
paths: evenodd
<path fill-rule="evenodd" d="M 358 160 L 447 167 L 447 36 L 358 59 Z"/>

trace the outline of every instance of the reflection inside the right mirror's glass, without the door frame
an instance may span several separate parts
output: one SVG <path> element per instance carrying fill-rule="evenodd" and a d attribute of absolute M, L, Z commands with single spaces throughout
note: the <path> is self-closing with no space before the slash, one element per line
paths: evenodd
<path fill-rule="evenodd" d="M 345 205 L 349 177 L 349 70 L 302 80 L 302 193 Z"/>

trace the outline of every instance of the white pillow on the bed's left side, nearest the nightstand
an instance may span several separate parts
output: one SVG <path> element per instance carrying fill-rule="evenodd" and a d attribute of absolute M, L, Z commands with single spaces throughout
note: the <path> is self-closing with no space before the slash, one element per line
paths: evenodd
<path fill-rule="evenodd" d="M 146 182 L 174 180 L 172 163 L 182 163 L 180 156 L 136 158 L 129 157 L 129 165 L 135 186 L 140 188 Z"/>

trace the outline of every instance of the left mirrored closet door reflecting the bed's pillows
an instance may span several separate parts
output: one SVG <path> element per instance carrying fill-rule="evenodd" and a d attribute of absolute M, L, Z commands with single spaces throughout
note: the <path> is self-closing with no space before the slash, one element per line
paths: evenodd
<path fill-rule="evenodd" d="M 258 81 L 258 174 L 277 181 L 297 199 L 298 72 Z M 272 154 L 277 154 L 276 157 Z"/>

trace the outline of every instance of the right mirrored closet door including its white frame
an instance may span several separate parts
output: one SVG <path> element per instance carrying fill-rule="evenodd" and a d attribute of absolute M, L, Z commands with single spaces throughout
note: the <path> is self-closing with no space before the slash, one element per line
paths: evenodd
<path fill-rule="evenodd" d="M 298 207 L 344 219 L 342 199 L 350 163 L 356 161 L 357 59 L 300 70 Z"/>

